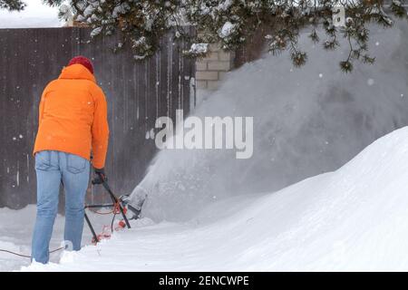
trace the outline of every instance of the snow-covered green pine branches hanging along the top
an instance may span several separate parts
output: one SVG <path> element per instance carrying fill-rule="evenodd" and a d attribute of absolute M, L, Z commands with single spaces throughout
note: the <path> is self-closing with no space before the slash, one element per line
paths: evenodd
<path fill-rule="evenodd" d="M 60 5 L 61 0 L 46 0 Z M 220 43 L 226 50 L 234 50 L 251 39 L 260 27 L 267 27 L 265 35 L 272 53 L 288 50 L 296 66 L 306 63 L 307 53 L 298 47 L 297 39 L 309 31 L 314 43 L 323 39 L 323 46 L 333 50 L 344 38 L 349 55 L 340 63 L 350 72 L 355 61 L 373 63 L 368 53 L 368 24 L 392 27 L 391 15 L 408 18 L 405 0 L 70 0 L 74 20 L 92 27 L 92 36 L 123 35 L 121 45 L 130 45 L 136 60 L 153 55 L 159 49 L 160 37 L 175 28 L 175 41 Z M 345 7 L 343 26 L 333 22 L 338 7 Z M 386 9 L 384 9 L 386 7 Z M 385 12 L 386 11 L 386 12 Z M 194 25 L 197 34 L 185 33 L 185 25 Z M 278 40 L 278 41 L 277 41 Z M 191 46 L 190 55 L 201 56 Z"/>

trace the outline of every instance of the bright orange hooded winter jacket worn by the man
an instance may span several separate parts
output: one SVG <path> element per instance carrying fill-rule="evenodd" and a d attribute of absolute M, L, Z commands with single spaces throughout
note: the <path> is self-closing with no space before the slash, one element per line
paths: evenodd
<path fill-rule="evenodd" d="M 58 150 L 91 159 L 104 167 L 108 150 L 107 105 L 95 77 L 82 64 L 63 69 L 44 89 L 40 102 L 35 152 Z"/>

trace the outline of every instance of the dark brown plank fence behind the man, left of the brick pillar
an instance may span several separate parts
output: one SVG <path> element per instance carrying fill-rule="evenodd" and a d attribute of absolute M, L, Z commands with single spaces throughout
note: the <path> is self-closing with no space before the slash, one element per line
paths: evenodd
<path fill-rule="evenodd" d="M 127 48 L 112 53 L 119 36 L 89 43 L 89 33 L 86 28 L 0 29 L 0 207 L 23 208 L 35 201 L 32 150 L 38 102 L 46 83 L 74 55 L 92 59 L 107 96 L 111 137 L 106 169 L 118 194 L 131 192 L 154 156 L 154 140 L 146 137 L 156 119 L 174 118 L 179 108 L 189 112 L 195 62 L 182 57 L 185 43 L 173 43 L 169 34 L 160 52 L 135 63 Z"/>

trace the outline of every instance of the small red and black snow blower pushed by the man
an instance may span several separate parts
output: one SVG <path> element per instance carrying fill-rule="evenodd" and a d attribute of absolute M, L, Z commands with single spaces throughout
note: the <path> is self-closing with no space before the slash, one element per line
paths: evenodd
<path fill-rule="evenodd" d="M 119 227 L 131 228 L 131 224 L 129 223 L 129 220 L 139 218 L 140 214 L 141 214 L 141 209 L 131 207 L 131 205 L 129 205 L 128 202 L 127 202 L 127 196 L 121 196 L 120 198 L 117 198 L 113 194 L 112 189 L 108 185 L 108 182 L 107 182 L 106 179 L 102 179 L 102 180 L 93 179 L 92 180 L 92 185 L 95 185 L 95 184 L 102 184 L 103 188 L 106 189 L 109 196 L 112 198 L 112 203 L 85 205 L 85 209 L 113 208 L 112 209 L 113 218 L 112 218 L 112 224 L 111 224 L 111 232 L 113 232 L 114 219 L 115 219 L 116 215 L 118 215 L 118 214 L 121 214 L 121 217 L 122 217 L 121 221 L 119 222 Z M 128 210 L 131 210 L 131 213 L 132 213 L 131 218 L 126 217 L 126 213 L 127 213 Z M 98 213 L 98 212 L 96 212 L 96 213 Z M 103 233 L 101 235 L 97 235 L 94 228 L 92 227 L 91 220 L 88 217 L 88 215 L 86 214 L 86 212 L 84 214 L 84 217 L 85 217 L 86 223 L 88 224 L 88 227 L 90 228 L 91 233 L 92 233 L 92 243 L 97 244 L 103 237 L 110 237 L 110 235 L 107 236 L 104 233 L 105 227 L 103 228 Z"/>

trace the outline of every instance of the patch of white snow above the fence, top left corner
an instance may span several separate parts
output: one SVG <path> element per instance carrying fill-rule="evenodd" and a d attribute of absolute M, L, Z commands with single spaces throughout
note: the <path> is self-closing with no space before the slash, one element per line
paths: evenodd
<path fill-rule="evenodd" d="M 42 0 L 25 1 L 22 12 L 0 10 L 0 28 L 59 27 L 58 8 L 43 4 Z"/>

